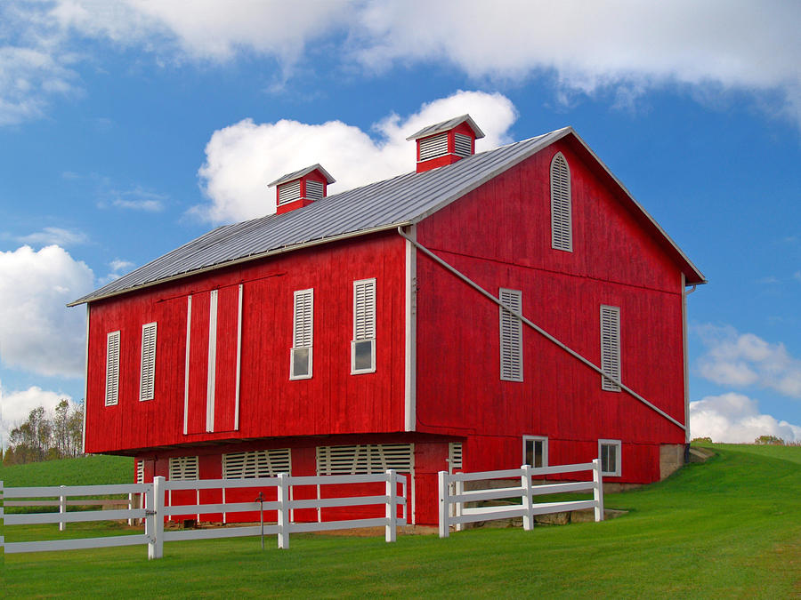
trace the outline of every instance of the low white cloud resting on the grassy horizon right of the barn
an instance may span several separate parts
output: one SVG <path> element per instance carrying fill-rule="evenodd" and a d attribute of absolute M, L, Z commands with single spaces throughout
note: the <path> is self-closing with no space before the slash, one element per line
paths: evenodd
<path fill-rule="evenodd" d="M 692 437 L 730 444 L 752 443 L 759 436 L 801 442 L 801 427 L 761 414 L 756 400 L 734 392 L 691 402 L 690 430 Z"/>

